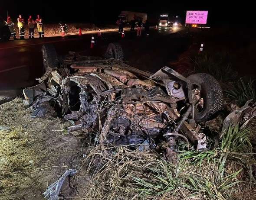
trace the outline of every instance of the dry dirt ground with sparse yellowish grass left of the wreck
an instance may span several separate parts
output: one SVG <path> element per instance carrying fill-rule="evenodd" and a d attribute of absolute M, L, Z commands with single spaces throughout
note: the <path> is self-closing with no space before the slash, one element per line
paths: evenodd
<path fill-rule="evenodd" d="M 0 105 L 0 116 L 8 129 L 0 130 L 0 199 L 43 200 L 49 184 L 80 165 L 80 139 L 59 118 L 31 119 L 21 98 Z"/>

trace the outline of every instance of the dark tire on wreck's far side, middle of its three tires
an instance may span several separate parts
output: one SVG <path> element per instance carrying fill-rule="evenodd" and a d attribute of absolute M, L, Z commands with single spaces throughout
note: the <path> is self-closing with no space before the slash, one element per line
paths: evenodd
<path fill-rule="evenodd" d="M 125 60 L 125 54 L 122 46 L 118 42 L 108 44 L 105 52 L 105 58 L 115 58 L 120 61 Z"/>

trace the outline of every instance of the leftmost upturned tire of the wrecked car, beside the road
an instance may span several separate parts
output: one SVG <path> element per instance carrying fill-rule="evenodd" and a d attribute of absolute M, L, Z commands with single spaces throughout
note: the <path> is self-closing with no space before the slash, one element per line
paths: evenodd
<path fill-rule="evenodd" d="M 43 55 L 43 67 L 47 71 L 47 68 L 57 69 L 58 59 L 54 46 L 52 44 L 46 44 L 42 46 Z"/>

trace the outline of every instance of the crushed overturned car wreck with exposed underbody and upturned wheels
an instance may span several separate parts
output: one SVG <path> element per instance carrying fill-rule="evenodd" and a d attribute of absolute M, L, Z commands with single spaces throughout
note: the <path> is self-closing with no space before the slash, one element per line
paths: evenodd
<path fill-rule="evenodd" d="M 184 77 L 163 67 L 155 74 L 123 62 L 122 48 L 108 45 L 105 58 L 69 52 L 59 57 L 43 45 L 45 74 L 39 85 L 23 90 L 33 117 L 47 114 L 46 103 L 69 120 L 69 132 L 100 134 L 105 144 L 156 148 L 165 142 L 165 156 L 175 162 L 177 142 L 205 151 L 207 136 L 198 123 L 222 108 L 223 94 L 209 74 Z"/>

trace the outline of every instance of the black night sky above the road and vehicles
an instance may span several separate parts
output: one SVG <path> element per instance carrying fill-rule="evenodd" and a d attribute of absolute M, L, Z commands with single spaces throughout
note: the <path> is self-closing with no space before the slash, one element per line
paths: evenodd
<path fill-rule="evenodd" d="M 72 3 L 67 3 L 72 2 Z M 181 1 L 179 1 L 181 2 Z M 95 23 L 114 24 L 121 10 L 148 13 L 148 20 L 155 23 L 161 13 L 178 15 L 184 23 L 186 10 L 209 10 L 207 23 L 218 25 L 253 25 L 253 13 L 250 3 L 224 3 L 224 1 L 195 1 L 175 3 L 175 1 L 157 0 L 72 0 L 72 1 L 4 1 L 0 3 L 0 15 L 6 18 L 7 11 L 14 20 L 19 14 L 25 19 L 29 15 L 35 18 L 39 13 L 45 23 Z"/>

